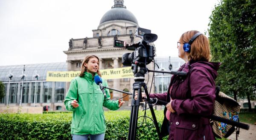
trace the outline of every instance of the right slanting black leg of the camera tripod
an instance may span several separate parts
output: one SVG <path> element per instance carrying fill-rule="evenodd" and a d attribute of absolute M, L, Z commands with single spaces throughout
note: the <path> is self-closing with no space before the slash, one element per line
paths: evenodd
<path fill-rule="evenodd" d="M 143 84 L 143 88 L 144 88 L 144 91 L 145 91 L 146 96 L 147 96 L 148 106 L 150 108 L 151 115 L 152 115 L 152 118 L 154 120 L 154 125 L 156 126 L 156 129 L 157 129 L 157 134 L 158 134 L 159 140 L 163 140 L 162 136 L 160 134 L 160 128 L 159 128 L 158 123 L 157 123 L 156 115 L 154 114 L 154 109 L 153 109 L 152 103 L 151 103 L 151 101 L 149 99 L 148 88 L 147 88 L 145 83 Z"/>

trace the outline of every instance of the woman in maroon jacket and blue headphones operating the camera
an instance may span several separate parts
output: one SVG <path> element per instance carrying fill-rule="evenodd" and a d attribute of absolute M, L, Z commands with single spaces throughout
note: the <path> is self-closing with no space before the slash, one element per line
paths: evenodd
<path fill-rule="evenodd" d="M 209 62 L 209 40 L 198 31 L 187 31 L 177 42 L 178 56 L 186 63 L 174 75 L 168 92 L 150 98 L 169 102 L 164 109 L 161 134 L 169 140 L 215 140 L 209 119 L 215 101 L 215 78 L 220 63 Z M 145 98 L 145 93 L 142 93 Z M 137 95 L 135 97 L 137 99 Z"/>

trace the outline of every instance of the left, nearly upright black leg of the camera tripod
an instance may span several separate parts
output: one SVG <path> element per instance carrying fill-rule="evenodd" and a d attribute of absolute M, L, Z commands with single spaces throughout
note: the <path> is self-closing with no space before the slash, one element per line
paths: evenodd
<path fill-rule="evenodd" d="M 140 100 L 135 100 L 135 91 L 138 90 L 138 98 L 141 98 L 141 86 L 139 82 L 135 82 L 133 85 L 133 95 L 131 101 L 131 116 L 130 116 L 130 126 L 129 126 L 129 134 L 128 140 L 135 140 L 136 138 L 136 129 L 137 129 L 137 121 L 138 121 L 138 112 L 140 106 Z"/>

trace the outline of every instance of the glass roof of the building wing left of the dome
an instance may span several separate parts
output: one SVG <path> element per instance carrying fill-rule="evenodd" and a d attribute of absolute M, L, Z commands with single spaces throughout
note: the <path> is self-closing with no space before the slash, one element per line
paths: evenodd
<path fill-rule="evenodd" d="M 0 66 L 0 81 L 8 82 L 9 74 L 12 73 L 11 81 L 22 81 L 24 65 Z M 47 71 L 67 71 L 66 62 L 26 64 L 24 71 L 24 81 L 35 81 L 35 75 L 38 74 L 38 80 L 46 80 Z"/>

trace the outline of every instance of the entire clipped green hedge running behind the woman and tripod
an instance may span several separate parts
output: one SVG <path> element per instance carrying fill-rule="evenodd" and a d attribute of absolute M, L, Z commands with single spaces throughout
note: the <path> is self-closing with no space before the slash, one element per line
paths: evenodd
<path fill-rule="evenodd" d="M 161 127 L 163 111 L 155 111 L 158 125 Z M 144 112 L 139 111 L 139 116 Z M 147 115 L 151 117 L 150 111 Z M 106 111 L 106 140 L 126 140 L 129 132 L 130 110 Z M 0 114 L 0 140 L 71 140 L 70 126 L 72 112 L 46 114 Z M 139 118 L 141 124 L 143 118 Z M 153 124 L 147 119 L 148 124 Z M 137 129 L 138 140 L 156 140 L 155 127 L 149 128 L 145 122 Z M 167 139 L 165 137 L 164 139 Z"/>

